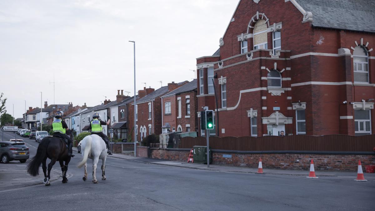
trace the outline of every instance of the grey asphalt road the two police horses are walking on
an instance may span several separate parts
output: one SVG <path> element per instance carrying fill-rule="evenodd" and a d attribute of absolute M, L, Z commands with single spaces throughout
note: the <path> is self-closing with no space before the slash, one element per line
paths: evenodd
<path fill-rule="evenodd" d="M 31 155 L 37 144 L 25 139 Z M 160 166 L 107 158 L 106 176 L 84 182 L 69 164 L 69 182 L 0 192 L 0 210 L 374 210 L 375 182 L 347 177 L 255 175 Z M 0 164 L 5 165 L 5 164 Z M 99 166 L 101 161 L 99 161 Z M 59 169 L 58 164 L 54 166 Z M 1 178 L 0 178 L 1 184 Z"/>

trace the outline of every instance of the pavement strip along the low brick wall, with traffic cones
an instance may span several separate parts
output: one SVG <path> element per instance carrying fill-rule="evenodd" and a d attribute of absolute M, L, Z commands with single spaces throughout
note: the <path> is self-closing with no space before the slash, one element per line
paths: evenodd
<path fill-rule="evenodd" d="M 73 148 L 73 151 L 77 151 L 77 148 Z M 199 169 L 199 170 L 211 170 L 211 171 L 220 171 L 220 172 L 240 172 L 240 173 L 257 173 L 258 168 L 249 168 L 249 167 L 237 167 L 237 166 L 223 166 L 217 164 L 210 164 L 210 167 L 207 168 L 207 164 L 201 163 L 187 163 L 182 161 L 169 161 L 169 160 L 160 160 L 153 158 L 141 158 L 134 157 L 134 153 L 128 152 L 126 154 L 113 154 L 108 155 L 108 157 L 119 158 L 123 160 L 132 160 L 141 163 L 149 163 L 156 165 L 164 166 L 175 166 L 188 169 Z M 290 170 L 290 169 L 267 169 L 267 166 L 263 165 L 264 174 L 275 174 L 275 175 L 309 175 L 309 171 L 306 170 Z M 315 171 L 317 176 L 357 176 L 357 172 L 348 172 L 348 171 Z M 364 173 L 365 178 L 371 178 L 375 180 L 375 173 Z"/>

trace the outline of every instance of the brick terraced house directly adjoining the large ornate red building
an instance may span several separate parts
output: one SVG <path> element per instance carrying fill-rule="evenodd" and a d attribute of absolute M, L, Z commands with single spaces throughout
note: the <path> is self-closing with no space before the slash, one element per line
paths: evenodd
<path fill-rule="evenodd" d="M 162 96 L 162 133 L 196 131 L 196 79 Z"/>

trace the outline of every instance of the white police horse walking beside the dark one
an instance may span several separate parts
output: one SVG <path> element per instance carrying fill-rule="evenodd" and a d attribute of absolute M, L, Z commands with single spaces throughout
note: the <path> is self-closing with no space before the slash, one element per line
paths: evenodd
<path fill-rule="evenodd" d="M 102 159 L 102 180 L 105 180 L 105 160 L 107 159 L 107 147 L 102 137 L 98 135 L 86 136 L 79 144 L 81 145 L 83 160 L 78 164 L 78 167 L 81 168 L 82 166 L 85 166 L 85 175 L 82 178 L 83 181 L 87 180 L 87 158 L 93 160 L 94 183 L 98 183 L 95 176 L 96 165 L 98 164 L 99 159 Z"/>

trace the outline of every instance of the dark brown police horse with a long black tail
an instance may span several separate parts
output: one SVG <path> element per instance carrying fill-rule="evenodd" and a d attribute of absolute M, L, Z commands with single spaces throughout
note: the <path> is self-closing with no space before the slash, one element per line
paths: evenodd
<path fill-rule="evenodd" d="M 67 130 L 66 134 L 70 137 L 72 130 Z M 51 159 L 51 163 L 48 164 L 48 174 L 46 161 L 47 158 Z M 31 176 L 39 175 L 39 167 L 42 164 L 44 173 L 43 182 L 45 185 L 50 185 L 49 179 L 51 179 L 52 166 L 58 161 L 60 163 L 61 171 L 63 172 L 63 183 L 68 182 L 66 178 L 66 171 L 68 171 L 68 164 L 71 157 L 68 156 L 68 148 L 66 142 L 59 137 L 45 137 L 40 141 L 35 157 L 27 165 L 27 172 Z M 64 163 L 65 162 L 65 163 Z"/>

